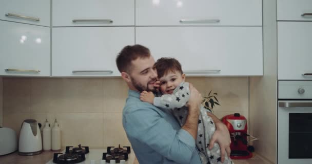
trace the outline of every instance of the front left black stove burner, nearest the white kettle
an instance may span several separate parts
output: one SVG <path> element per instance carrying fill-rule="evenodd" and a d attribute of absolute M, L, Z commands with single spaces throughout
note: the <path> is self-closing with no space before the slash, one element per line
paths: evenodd
<path fill-rule="evenodd" d="M 85 154 L 54 153 L 53 162 L 57 164 L 74 164 L 86 160 Z M 60 156 L 59 156 L 60 155 Z"/>

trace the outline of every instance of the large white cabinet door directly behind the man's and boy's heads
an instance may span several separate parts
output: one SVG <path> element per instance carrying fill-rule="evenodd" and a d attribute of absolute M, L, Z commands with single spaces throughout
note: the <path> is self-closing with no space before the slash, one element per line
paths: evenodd
<path fill-rule="evenodd" d="M 263 75 L 262 27 L 136 27 L 135 40 L 189 76 Z"/>

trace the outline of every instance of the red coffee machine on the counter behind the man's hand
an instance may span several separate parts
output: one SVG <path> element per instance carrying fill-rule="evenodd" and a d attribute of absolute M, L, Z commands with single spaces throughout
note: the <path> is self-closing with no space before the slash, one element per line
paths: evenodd
<path fill-rule="evenodd" d="M 247 119 L 239 113 L 226 115 L 222 118 L 231 137 L 231 159 L 248 159 L 252 153 L 248 150 Z"/>

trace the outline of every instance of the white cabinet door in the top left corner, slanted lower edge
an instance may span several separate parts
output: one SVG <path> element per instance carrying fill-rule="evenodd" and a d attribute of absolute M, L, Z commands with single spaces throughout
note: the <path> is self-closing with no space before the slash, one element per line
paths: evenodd
<path fill-rule="evenodd" d="M 50 0 L 1 0 L 0 19 L 50 26 Z"/>

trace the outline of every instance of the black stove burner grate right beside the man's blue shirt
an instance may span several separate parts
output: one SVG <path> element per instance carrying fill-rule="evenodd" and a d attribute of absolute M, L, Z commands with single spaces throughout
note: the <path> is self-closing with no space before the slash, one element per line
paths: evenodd
<path fill-rule="evenodd" d="M 120 160 L 128 160 L 130 147 L 124 147 L 127 149 L 123 149 L 119 145 L 119 148 L 114 148 L 113 150 L 111 150 L 111 148 L 114 147 L 107 147 L 107 153 L 103 153 L 102 159 L 106 160 L 106 162 L 109 163 L 111 159 L 116 160 L 116 163 L 119 163 Z"/>

